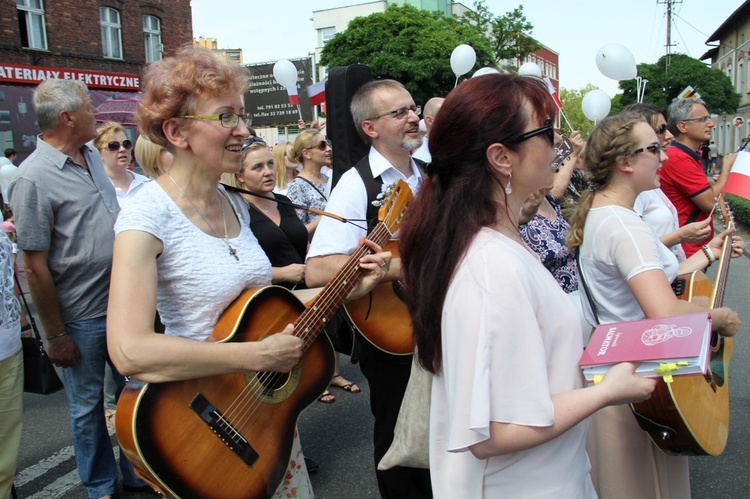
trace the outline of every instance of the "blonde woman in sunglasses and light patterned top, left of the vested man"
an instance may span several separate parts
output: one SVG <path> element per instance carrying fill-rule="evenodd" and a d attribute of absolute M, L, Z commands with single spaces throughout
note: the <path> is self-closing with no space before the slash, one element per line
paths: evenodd
<path fill-rule="evenodd" d="M 325 209 L 328 177 L 320 170 L 324 166 L 330 167 L 332 163 L 331 146 L 325 137 L 315 129 L 303 130 L 294 141 L 290 159 L 294 163 L 302 163 L 302 171 L 289 184 L 286 195 L 296 204 Z M 307 227 L 309 237 L 312 237 L 320 221 L 318 215 L 297 210 L 297 216 Z"/>

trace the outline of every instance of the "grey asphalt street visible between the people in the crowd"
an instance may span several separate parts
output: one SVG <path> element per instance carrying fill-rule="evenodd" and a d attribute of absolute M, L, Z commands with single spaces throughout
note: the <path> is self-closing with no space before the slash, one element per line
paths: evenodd
<path fill-rule="evenodd" d="M 732 260 L 725 305 L 737 310 L 744 324 L 736 338 L 730 366 L 729 442 L 719 457 L 690 458 L 693 498 L 750 496 L 747 486 L 750 470 L 750 284 L 747 276 L 750 276 L 748 256 Z M 373 418 L 367 384 L 359 366 L 350 364 L 345 356 L 342 356 L 341 371 L 362 388 L 362 393 L 332 389 L 336 396 L 334 404 L 315 402 L 299 421 L 303 449 L 321 468 L 311 476 L 313 489 L 316 497 L 322 499 L 376 498 L 371 443 Z M 112 443 L 116 447 L 114 437 Z M 24 429 L 16 484 L 23 498 L 86 497 L 75 468 L 64 392 L 24 396 Z M 149 496 L 122 493 L 120 497 Z"/>

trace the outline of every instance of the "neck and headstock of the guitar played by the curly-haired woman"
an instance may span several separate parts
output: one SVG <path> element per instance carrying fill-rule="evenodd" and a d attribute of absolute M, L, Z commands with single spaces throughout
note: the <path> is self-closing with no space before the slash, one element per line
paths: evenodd
<path fill-rule="evenodd" d="M 384 246 L 390 238 L 391 233 L 383 223 L 378 223 L 367 236 L 367 239 L 378 246 Z M 359 261 L 372 252 L 368 246 L 362 245 L 357 248 L 333 279 L 325 285 L 315 301 L 294 323 L 294 334 L 304 342 L 304 350 L 307 350 L 317 338 L 336 310 L 344 303 L 344 299 L 354 289 L 361 272 Z"/>

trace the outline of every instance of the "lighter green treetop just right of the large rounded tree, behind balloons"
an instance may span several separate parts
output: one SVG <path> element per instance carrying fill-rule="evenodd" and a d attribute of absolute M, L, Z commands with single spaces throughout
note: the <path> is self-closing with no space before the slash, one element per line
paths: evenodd
<path fill-rule="evenodd" d="M 531 36 L 534 25 L 526 20 L 523 5 L 494 17 L 484 0 L 478 0 L 474 2 L 474 10 L 466 12 L 459 22 L 478 26 L 488 36 L 495 59 L 509 61 L 504 68 L 506 71 L 515 72 L 516 61 L 523 61 L 542 47 Z"/>

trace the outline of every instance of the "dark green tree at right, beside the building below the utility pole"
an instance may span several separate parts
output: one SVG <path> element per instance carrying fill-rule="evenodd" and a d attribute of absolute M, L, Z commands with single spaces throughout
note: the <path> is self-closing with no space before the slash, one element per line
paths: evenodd
<path fill-rule="evenodd" d="M 669 73 L 665 72 L 665 57 L 654 64 L 639 64 L 638 74 L 648 80 L 643 102 L 666 108 L 688 85 L 701 94 L 712 113 L 731 114 L 737 111 L 741 96 L 735 92 L 732 81 L 722 71 L 684 54 L 673 54 Z M 620 82 L 623 106 L 637 101 L 636 82 Z"/>

